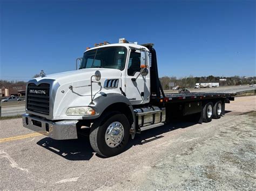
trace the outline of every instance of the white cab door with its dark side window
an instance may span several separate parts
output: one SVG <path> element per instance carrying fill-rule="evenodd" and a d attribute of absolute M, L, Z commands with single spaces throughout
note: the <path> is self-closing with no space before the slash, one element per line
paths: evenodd
<path fill-rule="evenodd" d="M 144 55 L 147 56 L 146 69 L 149 71 L 149 54 L 146 52 Z M 138 50 L 130 51 L 126 67 L 125 94 L 133 105 L 145 104 L 150 101 L 150 72 L 145 76 L 140 75 L 140 70 L 142 69 L 140 68 L 141 59 L 142 52 Z M 138 78 L 134 81 L 137 76 Z"/>

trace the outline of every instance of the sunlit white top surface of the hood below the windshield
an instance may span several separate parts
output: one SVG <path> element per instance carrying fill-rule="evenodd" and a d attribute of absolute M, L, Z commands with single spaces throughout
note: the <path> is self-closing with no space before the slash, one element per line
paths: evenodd
<path fill-rule="evenodd" d="M 70 82 L 89 80 L 91 76 L 95 74 L 96 70 L 99 70 L 102 78 L 104 79 L 107 77 L 120 77 L 122 73 L 119 69 L 112 68 L 85 68 L 79 70 L 72 70 L 69 72 L 49 74 L 45 77 L 37 77 L 35 78 L 35 80 L 39 82 L 41 80 L 50 79 L 58 81 L 59 84 L 66 84 Z"/>

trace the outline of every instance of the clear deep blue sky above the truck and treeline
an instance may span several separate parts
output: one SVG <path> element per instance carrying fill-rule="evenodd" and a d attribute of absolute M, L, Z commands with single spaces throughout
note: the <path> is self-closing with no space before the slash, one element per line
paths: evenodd
<path fill-rule="evenodd" d="M 154 43 L 159 76 L 255 76 L 255 1 L 0 0 L 0 79 L 75 69 L 86 47 Z"/>

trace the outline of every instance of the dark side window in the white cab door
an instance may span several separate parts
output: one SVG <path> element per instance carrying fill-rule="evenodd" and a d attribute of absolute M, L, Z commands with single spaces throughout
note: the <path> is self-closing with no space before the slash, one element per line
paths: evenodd
<path fill-rule="evenodd" d="M 131 52 L 127 74 L 129 76 L 134 76 L 136 72 L 140 72 L 140 53 Z"/>

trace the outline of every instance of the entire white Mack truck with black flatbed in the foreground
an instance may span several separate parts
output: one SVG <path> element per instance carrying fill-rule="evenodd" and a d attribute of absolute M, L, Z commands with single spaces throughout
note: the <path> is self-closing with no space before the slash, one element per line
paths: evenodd
<path fill-rule="evenodd" d="M 151 43 L 104 42 L 87 48 L 79 60 L 77 70 L 28 82 L 23 126 L 57 140 L 77 139 L 90 129 L 90 144 L 104 157 L 123 152 L 136 133 L 180 116 L 198 123 L 220 118 L 235 96 L 164 94 Z"/>

